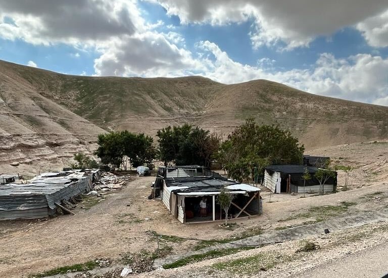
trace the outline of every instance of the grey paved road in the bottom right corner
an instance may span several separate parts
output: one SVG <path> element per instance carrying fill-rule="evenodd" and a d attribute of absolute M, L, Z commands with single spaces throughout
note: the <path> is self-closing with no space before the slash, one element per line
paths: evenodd
<path fill-rule="evenodd" d="M 381 278 L 388 273 L 388 243 L 372 247 L 335 262 L 314 267 L 300 278 Z"/>

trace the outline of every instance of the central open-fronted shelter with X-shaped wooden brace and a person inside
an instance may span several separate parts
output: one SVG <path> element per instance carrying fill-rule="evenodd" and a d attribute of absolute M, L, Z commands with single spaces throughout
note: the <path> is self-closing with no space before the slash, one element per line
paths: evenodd
<path fill-rule="evenodd" d="M 239 183 L 212 172 L 213 176 L 185 176 L 163 178 L 162 200 L 167 209 L 182 223 L 200 223 L 262 213 L 260 189 Z M 229 215 L 223 215 L 216 203 L 217 195 L 225 187 L 234 195 Z M 206 198 L 206 217 L 199 214 L 199 204 Z"/>

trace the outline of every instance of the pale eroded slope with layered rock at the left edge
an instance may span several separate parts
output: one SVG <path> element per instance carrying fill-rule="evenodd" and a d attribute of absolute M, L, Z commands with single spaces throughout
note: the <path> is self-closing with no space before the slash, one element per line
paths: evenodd
<path fill-rule="evenodd" d="M 74 153 L 90 153 L 102 132 L 105 130 L 40 95 L 16 72 L 1 67 L 0 174 L 28 176 L 61 169 Z"/>

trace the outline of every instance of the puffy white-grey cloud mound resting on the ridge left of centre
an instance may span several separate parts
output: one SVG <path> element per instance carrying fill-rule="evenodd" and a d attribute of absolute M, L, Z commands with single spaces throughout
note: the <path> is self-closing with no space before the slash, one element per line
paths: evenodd
<path fill-rule="evenodd" d="M 181 76 L 190 74 L 185 69 L 201 68 L 190 52 L 151 31 L 112 40 L 100 51 L 94 60 L 97 75 Z"/>

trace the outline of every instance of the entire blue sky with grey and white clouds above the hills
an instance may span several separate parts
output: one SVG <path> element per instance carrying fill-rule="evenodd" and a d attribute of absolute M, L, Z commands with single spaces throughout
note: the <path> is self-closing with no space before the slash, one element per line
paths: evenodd
<path fill-rule="evenodd" d="M 388 106 L 388 1 L 0 0 L 0 59 L 74 75 L 268 79 Z"/>

